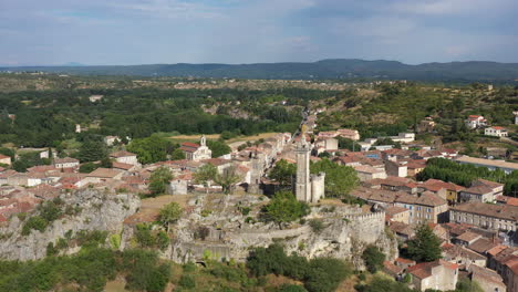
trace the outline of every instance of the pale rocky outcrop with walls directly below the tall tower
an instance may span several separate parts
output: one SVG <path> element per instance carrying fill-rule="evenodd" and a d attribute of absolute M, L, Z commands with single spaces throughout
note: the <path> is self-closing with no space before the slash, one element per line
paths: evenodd
<path fill-rule="evenodd" d="M 397 257 L 397 242 L 385 232 L 383 211 L 346 205 L 313 207 L 307 222 L 280 229 L 252 219 L 267 200 L 258 196 L 199 196 L 190 202 L 194 211 L 177 223 L 172 246 L 163 255 L 180 263 L 207 258 L 245 261 L 250 248 L 281 242 L 287 253 L 345 259 L 356 269 L 363 269 L 361 254 L 369 244 L 381 248 L 387 259 Z M 244 211 L 248 208 L 249 212 Z M 321 228 L 311 227 L 311 220 L 320 221 Z"/>

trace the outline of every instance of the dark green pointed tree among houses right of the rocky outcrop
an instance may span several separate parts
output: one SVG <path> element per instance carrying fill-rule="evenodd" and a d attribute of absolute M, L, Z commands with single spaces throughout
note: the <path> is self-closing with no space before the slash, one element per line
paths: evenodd
<path fill-rule="evenodd" d="M 435 261 L 441 259 L 441 239 L 428 225 L 417 227 L 415 238 L 408 241 L 408 254 L 415 261 Z"/>

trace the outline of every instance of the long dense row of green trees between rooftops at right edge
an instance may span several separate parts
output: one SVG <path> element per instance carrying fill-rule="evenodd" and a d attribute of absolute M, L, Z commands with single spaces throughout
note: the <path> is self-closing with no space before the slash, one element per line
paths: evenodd
<path fill-rule="evenodd" d="M 428 159 L 426 168 L 417 175 L 417 178 L 419 180 L 435 178 L 465 187 L 469 187 L 478 178 L 484 178 L 505 184 L 504 192 L 507 196 L 512 196 L 518 191 L 518 171 L 516 170 L 507 175 L 500 169 L 489 170 L 487 167 L 457 164 L 445 158 Z"/>

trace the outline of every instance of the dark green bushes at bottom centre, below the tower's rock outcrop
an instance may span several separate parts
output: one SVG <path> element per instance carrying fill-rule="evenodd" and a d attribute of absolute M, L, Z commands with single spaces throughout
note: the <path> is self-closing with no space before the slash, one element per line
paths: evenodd
<path fill-rule="evenodd" d="M 256 277 L 274 273 L 302 281 L 309 292 L 334 291 L 352 272 L 349 264 L 338 259 L 314 258 L 308 261 L 297 254 L 287 255 L 279 244 L 252 250 L 247 268 Z"/>

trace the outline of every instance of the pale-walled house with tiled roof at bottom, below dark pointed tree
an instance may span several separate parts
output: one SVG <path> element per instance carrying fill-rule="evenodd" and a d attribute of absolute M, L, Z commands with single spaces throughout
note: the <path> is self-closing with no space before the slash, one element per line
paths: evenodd
<path fill-rule="evenodd" d="M 412 274 L 412 285 L 418 291 L 447 291 L 455 290 L 457 285 L 458 265 L 444 260 L 417 263 L 406 271 Z"/>

